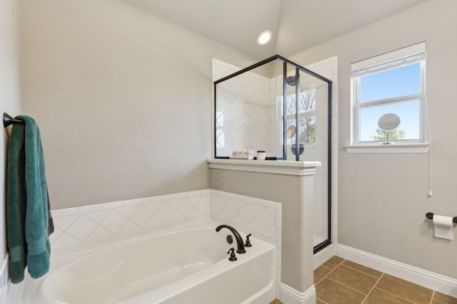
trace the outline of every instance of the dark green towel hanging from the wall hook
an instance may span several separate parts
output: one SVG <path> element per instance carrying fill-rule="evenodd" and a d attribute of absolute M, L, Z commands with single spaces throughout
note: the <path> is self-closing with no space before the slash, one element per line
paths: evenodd
<path fill-rule="evenodd" d="M 13 125 L 6 169 L 6 236 L 11 283 L 49 271 L 49 207 L 44 155 L 39 128 L 33 118 L 18 116 Z"/>

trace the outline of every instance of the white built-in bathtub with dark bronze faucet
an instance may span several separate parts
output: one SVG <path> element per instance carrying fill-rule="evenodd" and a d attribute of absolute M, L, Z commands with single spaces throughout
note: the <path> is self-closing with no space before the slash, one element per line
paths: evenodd
<path fill-rule="evenodd" d="M 218 225 L 188 221 L 57 248 L 51 271 L 34 281 L 24 303 L 270 303 L 276 295 L 276 248 L 253 234 L 253 246 L 229 261 L 227 251 L 236 249 L 236 241 L 227 243 L 231 231 L 216 232 Z M 239 232 L 245 239 L 251 231 Z"/>

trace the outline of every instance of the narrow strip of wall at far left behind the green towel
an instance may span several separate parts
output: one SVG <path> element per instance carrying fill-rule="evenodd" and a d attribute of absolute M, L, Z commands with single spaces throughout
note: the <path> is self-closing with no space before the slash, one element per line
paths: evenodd
<path fill-rule="evenodd" d="M 19 112 L 20 83 L 19 83 L 19 7 L 16 0 L 0 1 L 0 108 L 1 113 L 8 112 L 11 115 Z M 11 127 L 10 127 L 11 128 Z M 6 150 L 8 147 L 8 130 L 2 132 L 0 159 L 0 189 L 2 201 L 5 202 L 5 172 Z M 3 204 L 4 206 L 5 204 Z M 0 208 L 0 255 L 3 258 L 6 253 L 5 231 L 5 208 Z"/>

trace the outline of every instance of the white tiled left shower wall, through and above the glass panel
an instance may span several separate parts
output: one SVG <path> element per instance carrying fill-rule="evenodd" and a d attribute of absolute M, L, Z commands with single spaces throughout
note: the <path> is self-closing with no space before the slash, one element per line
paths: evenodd
<path fill-rule="evenodd" d="M 213 59 L 213 80 L 240 70 Z M 218 156 L 231 156 L 233 150 L 271 151 L 270 80 L 257 73 L 243 73 L 219 83 L 216 108 L 216 147 Z M 246 142 L 251 147 L 245 147 Z"/>

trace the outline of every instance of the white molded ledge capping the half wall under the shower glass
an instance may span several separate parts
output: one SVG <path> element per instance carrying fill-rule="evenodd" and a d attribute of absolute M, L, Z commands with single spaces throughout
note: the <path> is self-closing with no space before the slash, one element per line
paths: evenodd
<path fill-rule="evenodd" d="M 313 175 L 316 173 L 316 167 L 321 166 L 321 162 L 292 162 L 287 160 L 208 159 L 207 162 L 211 169 L 294 176 Z"/>

